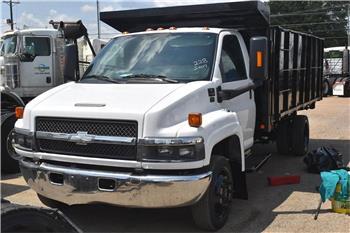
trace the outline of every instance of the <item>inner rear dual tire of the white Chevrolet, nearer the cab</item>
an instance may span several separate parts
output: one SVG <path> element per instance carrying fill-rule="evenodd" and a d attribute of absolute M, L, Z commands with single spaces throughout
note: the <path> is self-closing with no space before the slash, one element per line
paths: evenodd
<path fill-rule="evenodd" d="M 282 121 L 277 128 L 276 146 L 279 154 L 288 155 L 291 152 L 291 123 L 290 121 Z"/>

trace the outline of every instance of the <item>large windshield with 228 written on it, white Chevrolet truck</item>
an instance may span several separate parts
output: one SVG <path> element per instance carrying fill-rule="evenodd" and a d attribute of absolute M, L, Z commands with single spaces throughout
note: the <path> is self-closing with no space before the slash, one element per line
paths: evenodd
<path fill-rule="evenodd" d="M 113 39 L 94 59 L 83 82 L 190 82 L 209 80 L 217 35 L 213 33 L 150 33 Z M 91 78 L 95 79 L 91 79 Z"/>

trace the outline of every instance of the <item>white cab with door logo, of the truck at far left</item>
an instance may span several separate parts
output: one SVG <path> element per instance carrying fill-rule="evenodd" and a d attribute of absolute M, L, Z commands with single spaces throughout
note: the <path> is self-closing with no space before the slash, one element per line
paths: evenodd
<path fill-rule="evenodd" d="M 64 38 L 55 29 L 7 32 L 1 47 L 1 83 L 22 98 L 63 83 Z"/>

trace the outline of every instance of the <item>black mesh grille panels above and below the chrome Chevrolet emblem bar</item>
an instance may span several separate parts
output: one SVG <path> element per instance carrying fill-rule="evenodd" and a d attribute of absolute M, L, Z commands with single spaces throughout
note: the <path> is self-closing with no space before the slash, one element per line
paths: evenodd
<path fill-rule="evenodd" d="M 36 131 L 62 134 L 86 132 L 89 135 L 137 138 L 137 122 L 38 117 L 36 118 Z M 37 137 L 37 147 L 42 152 L 96 158 L 135 160 L 137 154 L 136 144 L 93 142 L 82 145 L 63 139 L 39 137 Z"/>

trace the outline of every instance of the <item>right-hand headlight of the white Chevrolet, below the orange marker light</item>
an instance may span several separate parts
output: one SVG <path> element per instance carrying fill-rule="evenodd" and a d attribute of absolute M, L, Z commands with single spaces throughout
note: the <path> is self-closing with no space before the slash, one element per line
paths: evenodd
<path fill-rule="evenodd" d="M 145 138 L 139 142 L 143 161 L 189 162 L 205 157 L 202 137 Z"/>

